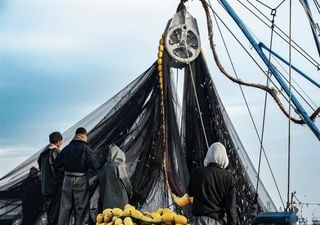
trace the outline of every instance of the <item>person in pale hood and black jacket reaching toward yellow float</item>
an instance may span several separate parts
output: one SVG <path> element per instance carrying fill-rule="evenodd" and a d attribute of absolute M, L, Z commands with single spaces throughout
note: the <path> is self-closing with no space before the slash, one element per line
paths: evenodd
<path fill-rule="evenodd" d="M 220 142 L 213 143 L 204 159 L 204 167 L 191 173 L 187 201 L 173 195 L 177 205 L 192 203 L 193 225 L 237 225 L 236 180 L 226 167 L 229 164 L 226 149 Z M 190 196 L 190 197 L 189 197 Z"/>

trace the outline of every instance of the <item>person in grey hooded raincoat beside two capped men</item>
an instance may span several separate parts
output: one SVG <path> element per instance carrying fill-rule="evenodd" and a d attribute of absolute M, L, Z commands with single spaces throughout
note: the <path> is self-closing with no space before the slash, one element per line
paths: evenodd
<path fill-rule="evenodd" d="M 99 171 L 100 199 L 103 209 L 124 208 L 132 194 L 126 156 L 117 145 L 110 145 L 107 161 Z"/>

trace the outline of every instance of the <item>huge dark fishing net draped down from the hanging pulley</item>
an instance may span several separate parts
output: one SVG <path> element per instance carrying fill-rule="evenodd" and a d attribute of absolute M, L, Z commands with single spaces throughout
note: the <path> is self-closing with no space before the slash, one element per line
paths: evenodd
<path fill-rule="evenodd" d="M 163 91 L 155 63 L 117 95 L 63 133 L 64 142 L 71 141 L 77 127 L 85 127 L 99 165 L 106 160 L 108 146 L 117 144 L 126 153 L 133 185 L 130 202 L 142 210 L 153 211 L 172 205 L 170 192 L 180 196 L 186 193 L 190 172 L 203 163 L 207 151 L 205 137 L 209 145 L 220 141 L 228 149 L 230 171 L 237 179 L 241 224 L 249 224 L 255 195 L 252 183 L 256 182 L 256 172 L 220 101 L 206 63 L 200 56 L 190 67 L 187 65 L 182 70 L 185 71 L 185 81 L 181 103 L 171 76 L 171 63 L 171 58 L 164 52 Z M 41 217 L 45 214 L 39 176 L 28 175 L 31 167 L 38 167 L 36 161 L 40 152 L 0 179 L 0 221 L 9 218 L 9 215 L 11 221 L 17 220 L 22 212 L 31 208 L 34 214 L 23 213 L 24 219 L 28 217 L 32 220 L 31 224 L 41 224 Z M 92 220 L 102 210 L 98 204 L 96 172 L 92 172 L 90 180 Z M 31 178 L 34 181 L 27 185 Z M 31 189 L 32 192 L 29 191 Z M 34 198 L 31 206 L 24 204 L 27 202 L 23 197 L 26 192 Z M 266 190 L 261 188 L 260 192 L 259 207 L 268 210 L 266 205 L 271 205 L 271 210 L 275 210 Z M 185 214 L 188 212 L 184 211 Z"/>

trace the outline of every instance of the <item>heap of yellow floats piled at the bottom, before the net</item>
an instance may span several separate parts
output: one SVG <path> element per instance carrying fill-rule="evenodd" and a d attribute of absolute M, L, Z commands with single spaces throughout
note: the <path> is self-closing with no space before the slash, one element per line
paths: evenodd
<path fill-rule="evenodd" d="M 141 212 L 127 204 L 124 209 L 105 209 L 97 215 L 96 225 L 184 225 L 188 220 L 169 208 L 160 208 L 154 212 Z"/>

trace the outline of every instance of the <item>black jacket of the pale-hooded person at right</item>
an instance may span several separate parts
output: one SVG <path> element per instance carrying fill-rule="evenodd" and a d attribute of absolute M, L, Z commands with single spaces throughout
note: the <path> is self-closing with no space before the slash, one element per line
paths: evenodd
<path fill-rule="evenodd" d="M 196 168 L 188 193 L 193 196 L 192 214 L 221 220 L 227 214 L 229 225 L 237 224 L 235 179 L 215 163 Z"/>

